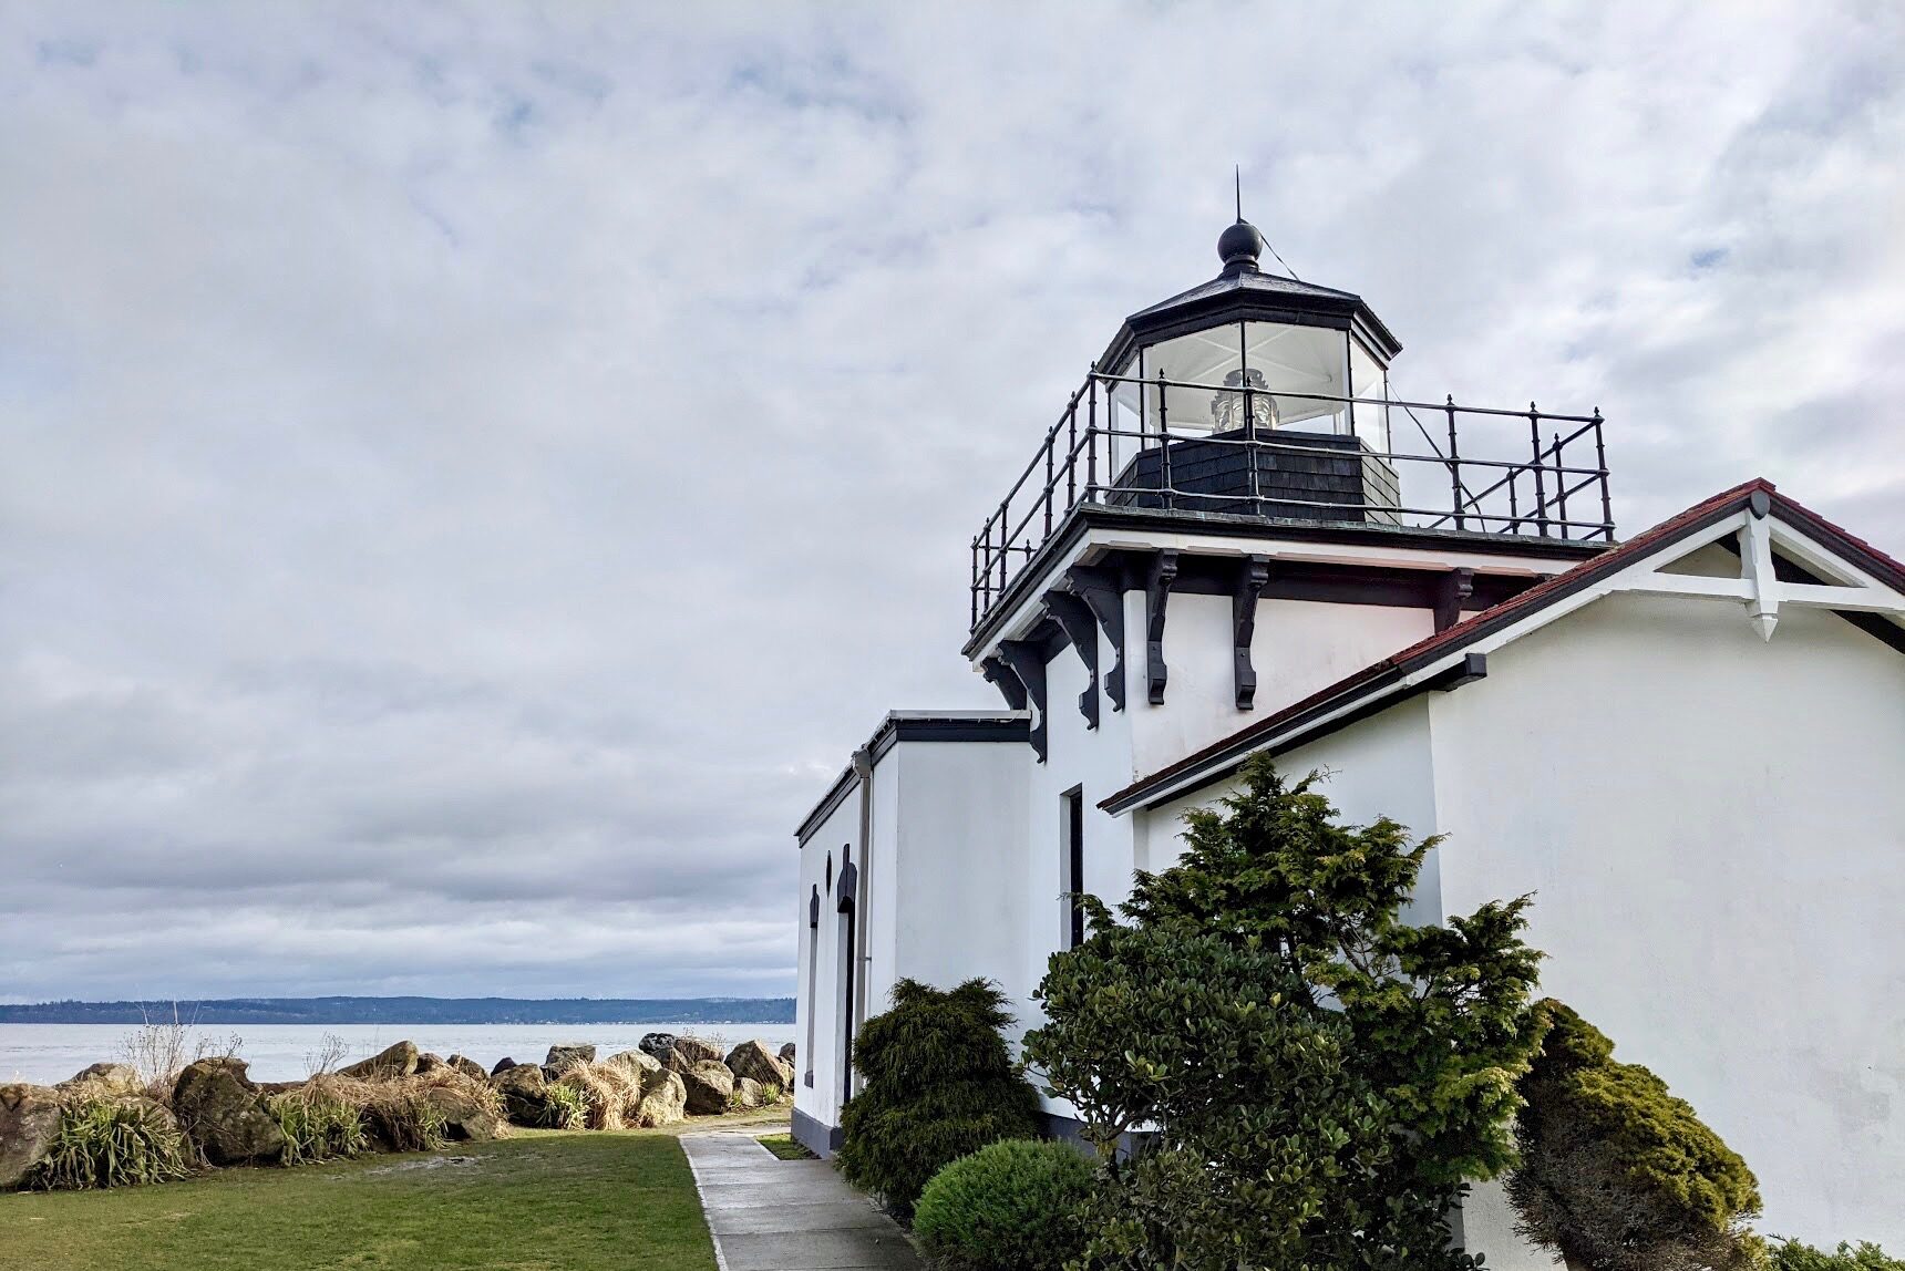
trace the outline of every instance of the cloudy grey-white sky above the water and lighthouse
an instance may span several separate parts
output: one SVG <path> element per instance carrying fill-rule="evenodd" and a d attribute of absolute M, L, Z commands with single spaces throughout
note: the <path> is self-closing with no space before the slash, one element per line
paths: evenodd
<path fill-rule="evenodd" d="M 0 6 L 0 999 L 791 993 L 1233 164 L 1627 532 L 1905 553 L 1894 4 Z"/>

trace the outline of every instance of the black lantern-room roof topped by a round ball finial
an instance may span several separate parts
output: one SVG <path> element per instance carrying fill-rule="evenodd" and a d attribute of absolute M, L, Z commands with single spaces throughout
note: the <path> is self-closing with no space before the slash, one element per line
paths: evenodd
<path fill-rule="evenodd" d="M 1267 274 L 1257 267 L 1263 248 L 1263 234 L 1250 221 L 1238 219 L 1225 229 L 1217 238 L 1223 272 L 1126 318 L 1099 358 L 1099 368 L 1116 373 L 1139 345 L 1231 322 L 1284 322 L 1356 332 L 1383 362 L 1402 353 L 1402 341 L 1383 326 L 1360 295 Z"/>

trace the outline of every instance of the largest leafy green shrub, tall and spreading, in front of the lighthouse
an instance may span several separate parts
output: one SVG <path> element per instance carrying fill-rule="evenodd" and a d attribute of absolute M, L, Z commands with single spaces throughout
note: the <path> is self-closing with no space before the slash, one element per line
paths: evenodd
<path fill-rule="evenodd" d="M 1244 764 L 1126 922 L 1084 898 L 1090 938 L 1048 964 L 1025 1058 L 1107 1159 L 1092 1267 L 1474 1265 L 1448 1216 L 1514 1159 L 1528 899 L 1408 926 L 1436 840 L 1341 825 L 1316 779 Z"/>

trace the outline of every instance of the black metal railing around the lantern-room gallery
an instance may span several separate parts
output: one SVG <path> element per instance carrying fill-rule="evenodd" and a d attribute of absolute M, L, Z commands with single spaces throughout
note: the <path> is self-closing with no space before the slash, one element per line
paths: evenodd
<path fill-rule="evenodd" d="M 1173 425 L 1168 404 L 1177 389 L 1242 396 L 1242 427 Z M 1301 425 L 1257 423 L 1274 419 L 1276 408 L 1290 404 L 1322 408 L 1351 431 L 1305 433 Z M 1394 448 L 1396 412 L 1414 425 L 1423 450 Z M 1372 423 L 1381 421 L 1370 429 L 1385 440 L 1381 450 L 1354 433 L 1354 425 L 1364 423 L 1362 414 Z M 1476 440 L 1484 442 L 1482 454 L 1520 452 L 1524 457 L 1478 457 Z M 1200 469 L 1187 476 L 1193 444 Z M 1293 471 L 1334 471 L 1341 478 L 1345 465 L 1362 473 L 1354 492 L 1341 490 L 1341 480 L 1290 476 Z M 1219 473 L 1215 480 L 1213 471 Z M 1339 488 L 1330 490 L 1332 484 Z M 1406 402 L 1092 372 L 972 539 L 973 627 L 1080 503 L 1614 539 L 1600 410 L 1556 415 L 1534 402 L 1528 410 L 1494 410 L 1457 406 L 1454 396 Z"/>

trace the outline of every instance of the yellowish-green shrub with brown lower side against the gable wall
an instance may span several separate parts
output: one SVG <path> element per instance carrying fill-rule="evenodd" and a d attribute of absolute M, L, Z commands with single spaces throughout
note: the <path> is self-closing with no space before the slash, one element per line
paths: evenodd
<path fill-rule="evenodd" d="M 1528 1107 L 1509 1176 L 1516 1229 L 1596 1271 L 1716 1271 L 1758 1265 L 1747 1162 L 1686 1100 L 1549 999 L 1549 1031 L 1520 1082 Z M 1804 1265 L 1804 1263 L 1800 1263 Z"/>

